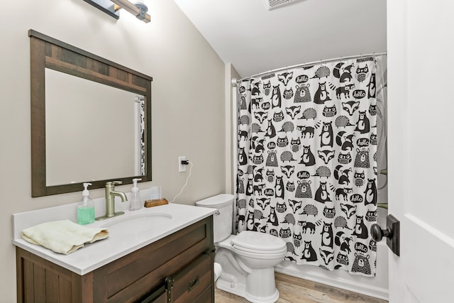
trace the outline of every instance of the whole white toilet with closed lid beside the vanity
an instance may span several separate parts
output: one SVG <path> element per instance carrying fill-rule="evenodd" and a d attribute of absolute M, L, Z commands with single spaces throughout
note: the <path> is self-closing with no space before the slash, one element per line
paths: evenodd
<path fill-rule="evenodd" d="M 272 303 L 279 299 L 274 267 L 287 251 L 281 238 L 258 231 L 241 231 L 232 235 L 232 194 L 218 194 L 199 202 L 197 206 L 216 208 L 214 215 L 216 286 L 254 303 Z M 219 274 L 220 272 L 220 274 Z"/>

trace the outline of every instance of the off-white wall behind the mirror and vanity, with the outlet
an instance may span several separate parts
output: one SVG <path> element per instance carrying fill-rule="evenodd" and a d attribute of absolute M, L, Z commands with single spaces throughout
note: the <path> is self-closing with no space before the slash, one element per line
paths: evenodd
<path fill-rule="evenodd" d="M 153 77 L 153 182 L 172 199 L 189 172 L 177 157 L 194 163 L 176 202 L 226 189 L 224 64 L 173 1 L 150 1 L 145 24 L 121 12 L 114 18 L 82 0 L 4 1 L 0 10 L 0 294 L 16 300 L 11 214 L 76 202 L 80 193 L 31 198 L 30 42 L 28 29 L 50 35 Z M 129 191 L 131 185 L 118 187 Z M 91 191 L 102 197 L 103 189 Z"/>

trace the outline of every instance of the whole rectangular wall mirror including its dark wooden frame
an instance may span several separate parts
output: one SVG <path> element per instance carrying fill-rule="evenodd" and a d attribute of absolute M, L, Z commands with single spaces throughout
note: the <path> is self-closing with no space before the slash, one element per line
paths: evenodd
<path fill-rule="evenodd" d="M 32 197 L 151 181 L 151 77 L 31 37 Z"/>

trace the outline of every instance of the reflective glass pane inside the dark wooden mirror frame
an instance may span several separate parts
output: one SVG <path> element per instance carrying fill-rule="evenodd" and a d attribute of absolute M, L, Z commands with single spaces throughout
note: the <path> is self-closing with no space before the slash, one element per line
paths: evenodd
<path fill-rule="evenodd" d="M 47 186 L 145 175 L 143 96 L 48 68 L 45 84 Z"/>

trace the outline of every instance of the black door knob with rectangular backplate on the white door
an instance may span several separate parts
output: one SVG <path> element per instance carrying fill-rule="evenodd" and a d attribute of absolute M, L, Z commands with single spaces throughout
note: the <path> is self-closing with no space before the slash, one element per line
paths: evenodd
<path fill-rule="evenodd" d="M 400 253 L 400 221 L 392 214 L 386 216 L 386 229 L 382 229 L 378 224 L 370 226 L 370 236 L 377 242 L 382 241 L 382 238 L 387 238 L 386 243 L 392 252 L 396 255 Z"/>

